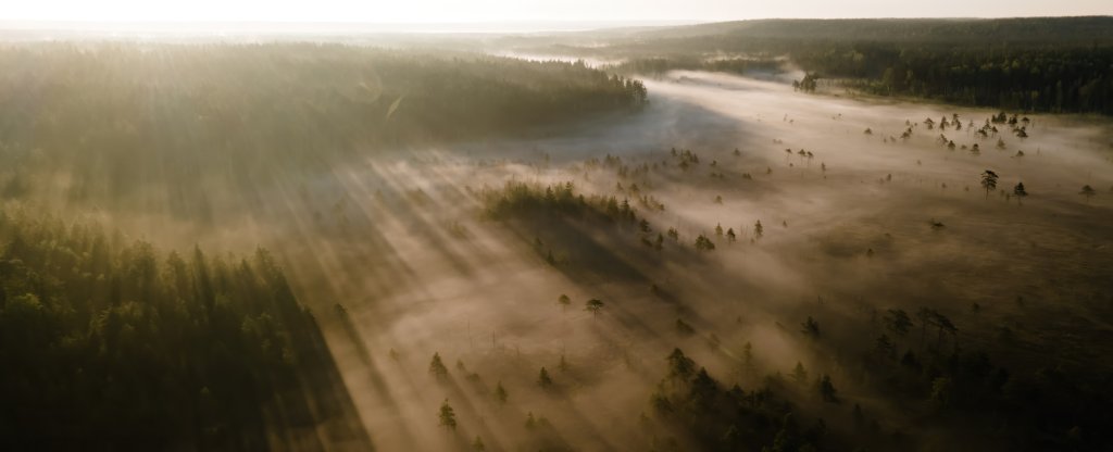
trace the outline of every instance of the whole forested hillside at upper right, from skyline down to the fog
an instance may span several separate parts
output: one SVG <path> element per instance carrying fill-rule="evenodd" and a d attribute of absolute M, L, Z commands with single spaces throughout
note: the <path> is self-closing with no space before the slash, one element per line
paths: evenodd
<path fill-rule="evenodd" d="M 1022 111 L 1113 115 L 1113 18 L 755 20 L 574 39 L 549 51 L 632 60 L 633 72 L 746 72 L 788 57 L 873 95 Z M 584 38 L 585 39 L 585 38 Z M 508 40 L 529 48 L 529 39 Z M 582 47 L 581 47 L 582 46 Z M 747 58 L 731 56 L 743 55 Z M 693 61 L 703 56 L 705 61 Z M 735 58 L 736 62 L 725 63 Z M 755 63 L 755 60 L 759 63 Z M 764 63 L 760 63 L 764 61 Z"/>

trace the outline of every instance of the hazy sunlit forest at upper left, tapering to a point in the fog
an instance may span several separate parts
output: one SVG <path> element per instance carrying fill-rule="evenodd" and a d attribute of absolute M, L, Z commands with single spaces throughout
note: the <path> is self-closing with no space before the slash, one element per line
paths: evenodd
<path fill-rule="evenodd" d="M 639 81 L 582 63 L 331 43 L 7 43 L 0 66 L 0 197 L 194 216 L 210 200 L 190 181 L 243 193 L 334 158 L 529 136 L 647 101 Z"/>

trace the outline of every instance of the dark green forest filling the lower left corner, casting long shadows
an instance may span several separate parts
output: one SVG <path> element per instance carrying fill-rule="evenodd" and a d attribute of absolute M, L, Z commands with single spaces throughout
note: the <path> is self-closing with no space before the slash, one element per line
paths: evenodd
<path fill-rule="evenodd" d="M 314 314 L 265 250 L 164 253 L 0 210 L 0 446 L 370 445 Z"/>

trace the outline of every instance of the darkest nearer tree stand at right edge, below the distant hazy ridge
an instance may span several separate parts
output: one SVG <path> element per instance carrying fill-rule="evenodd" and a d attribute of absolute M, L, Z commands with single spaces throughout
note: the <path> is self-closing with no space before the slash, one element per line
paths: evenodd
<path fill-rule="evenodd" d="M 883 96 L 1021 111 L 1113 114 L 1113 46 L 801 46 L 820 78 Z"/>

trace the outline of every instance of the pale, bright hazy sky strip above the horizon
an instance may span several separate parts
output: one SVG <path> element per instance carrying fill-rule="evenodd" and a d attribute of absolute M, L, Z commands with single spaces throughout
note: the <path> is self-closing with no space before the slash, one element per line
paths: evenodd
<path fill-rule="evenodd" d="M 3 0 L 0 20 L 489 22 L 1109 16 L 1113 0 Z"/>

